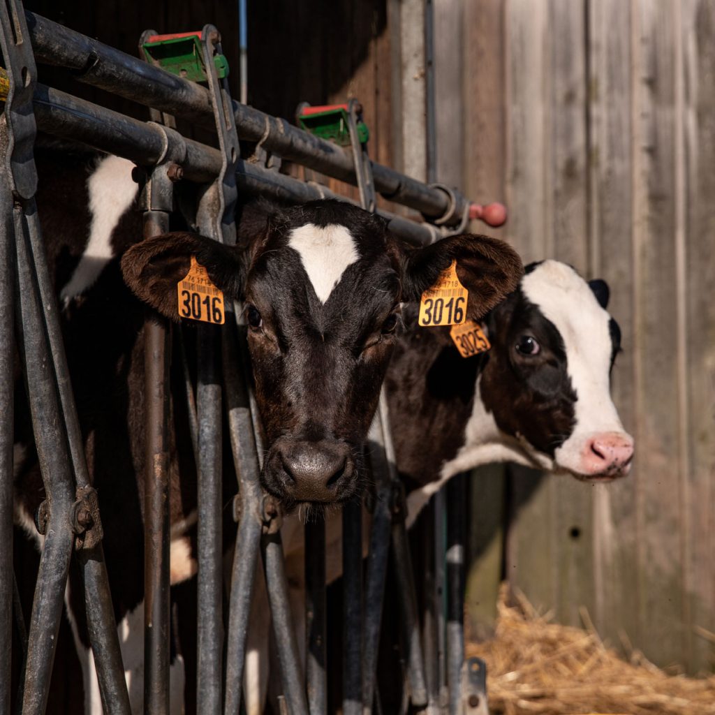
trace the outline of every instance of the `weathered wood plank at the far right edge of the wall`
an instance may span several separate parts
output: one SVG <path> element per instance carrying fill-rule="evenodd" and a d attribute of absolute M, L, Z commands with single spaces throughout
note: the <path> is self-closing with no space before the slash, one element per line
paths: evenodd
<path fill-rule="evenodd" d="M 691 635 L 689 670 L 711 669 L 715 631 L 715 2 L 683 4 L 686 189 L 686 377 L 690 495 L 685 565 Z"/>

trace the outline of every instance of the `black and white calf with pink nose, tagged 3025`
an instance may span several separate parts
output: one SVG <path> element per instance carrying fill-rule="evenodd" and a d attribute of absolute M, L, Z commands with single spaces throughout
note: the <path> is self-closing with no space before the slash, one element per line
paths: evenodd
<path fill-rule="evenodd" d="M 607 304 L 605 282 L 586 282 L 561 262 L 534 263 L 486 317 L 491 349 L 466 359 L 449 328 L 418 327 L 415 309 L 405 310 L 385 387 L 408 527 L 450 478 L 488 463 L 592 482 L 628 473 L 633 439 L 610 395 L 621 336 Z M 328 518 L 326 529 L 326 576 L 333 581 L 342 573 L 340 518 Z M 304 541 L 296 516 L 285 520 L 283 533 L 301 642 Z M 246 697 L 254 715 L 263 710 L 269 676 L 265 600 L 255 604 L 251 628 Z"/>

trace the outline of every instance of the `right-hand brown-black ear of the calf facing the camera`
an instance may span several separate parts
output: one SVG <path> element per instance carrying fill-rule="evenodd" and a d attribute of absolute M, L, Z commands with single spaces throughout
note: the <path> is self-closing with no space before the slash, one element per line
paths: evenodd
<path fill-rule="evenodd" d="M 469 291 L 467 316 L 472 320 L 479 320 L 516 290 L 524 272 L 521 258 L 505 242 L 472 234 L 452 236 L 405 252 L 403 300 L 420 300 L 453 260 L 460 282 Z"/>

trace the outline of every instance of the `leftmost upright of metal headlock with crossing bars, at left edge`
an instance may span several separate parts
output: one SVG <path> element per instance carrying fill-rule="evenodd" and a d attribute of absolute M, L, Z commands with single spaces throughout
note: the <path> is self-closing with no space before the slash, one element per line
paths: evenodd
<path fill-rule="evenodd" d="M 11 583 L 8 574 L 12 573 L 12 365 L 16 327 L 46 493 L 40 526 L 45 538 L 30 619 L 20 709 L 23 714 L 44 712 L 69 560 L 72 551 L 79 548 L 87 626 L 102 706 L 106 713 L 129 715 L 129 698 L 104 568 L 102 526 L 84 460 L 56 299 L 34 202 L 37 175 L 33 158 L 36 129 L 32 96 L 36 68 L 19 0 L 2 4 L 0 24 L 0 44 L 9 77 L 9 93 L 0 124 L 5 164 L 0 187 L 0 328 L 3 331 L 0 336 L 0 396 L 4 418 L 0 438 L 0 525 L 3 537 L 0 562 L 4 566 L 9 564 L 9 568 L 3 570 L 0 633 L 6 636 L 5 644 L 11 642 L 12 608 L 6 600 L 6 588 L 11 586 L 5 584 Z M 80 513 L 82 518 L 79 518 Z M 3 712 L 9 712 L 10 707 L 10 650 L 4 649 L 0 661 L 0 707 Z"/>

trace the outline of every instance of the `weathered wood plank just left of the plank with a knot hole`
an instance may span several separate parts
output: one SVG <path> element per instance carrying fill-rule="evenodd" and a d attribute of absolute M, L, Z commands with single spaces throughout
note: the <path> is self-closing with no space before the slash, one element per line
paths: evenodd
<path fill-rule="evenodd" d="M 525 263 L 553 252 L 548 21 L 544 1 L 506 4 L 506 233 Z M 551 608 L 558 598 L 553 480 L 516 466 L 509 475 L 506 576 L 537 607 Z"/>

